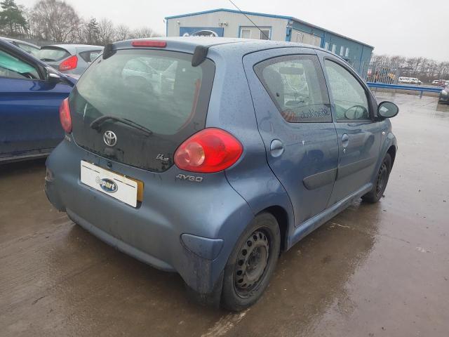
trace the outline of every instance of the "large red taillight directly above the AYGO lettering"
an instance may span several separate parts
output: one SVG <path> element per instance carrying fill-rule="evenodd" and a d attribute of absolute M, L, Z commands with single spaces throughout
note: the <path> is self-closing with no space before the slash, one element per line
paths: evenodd
<path fill-rule="evenodd" d="M 182 170 L 213 173 L 227 169 L 239 160 L 243 147 L 220 128 L 205 128 L 185 140 L 175 152 L 175 164 Z"/>

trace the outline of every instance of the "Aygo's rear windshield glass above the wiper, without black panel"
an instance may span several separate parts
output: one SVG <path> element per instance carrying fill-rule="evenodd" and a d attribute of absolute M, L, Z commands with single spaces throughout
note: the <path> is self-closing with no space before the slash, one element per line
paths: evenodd
<path fill-rule="evenodd" d="M 192 56 L 123 50 L 98 60 L 76 84 L 76 105 L 84 118 L 123 117 L 154 133 L 172 135 L 196 110 L 203 67 Z"/>

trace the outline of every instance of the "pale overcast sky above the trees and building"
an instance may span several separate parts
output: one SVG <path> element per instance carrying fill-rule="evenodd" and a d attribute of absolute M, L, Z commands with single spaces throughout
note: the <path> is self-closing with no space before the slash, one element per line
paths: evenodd
<path fill-rule="evenodd" d="M 242 11 L 288 15 L 363 41 L 377 55 L 449 61 L 449 0 L 233 0 Z M 66 0 L 84 18 L 165 34 L 166 16 L 234 8 L 228 0 Z M 31 7 L 36 0 L 16 0 Z"/>

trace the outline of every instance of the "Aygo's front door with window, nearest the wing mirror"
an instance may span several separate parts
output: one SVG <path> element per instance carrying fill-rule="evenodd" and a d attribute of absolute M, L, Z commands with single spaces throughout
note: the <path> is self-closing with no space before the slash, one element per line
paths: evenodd
<path fill-rule="evenodd" d="M 331 206 L 370 183 L 380 152 L 381 130 L 361 80 L 338 60 L 326 58 L 324 65 L 339 147 Z"/>

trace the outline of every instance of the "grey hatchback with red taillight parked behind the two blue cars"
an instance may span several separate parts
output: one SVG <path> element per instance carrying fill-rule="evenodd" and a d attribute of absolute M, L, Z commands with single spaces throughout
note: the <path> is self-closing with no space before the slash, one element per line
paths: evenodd
<path fill-rule="evenodd" d="M 55 44 L 43 46 L 37 57 L 63 74 L 81 75 L 102 50 L 88 44 Z"/>

